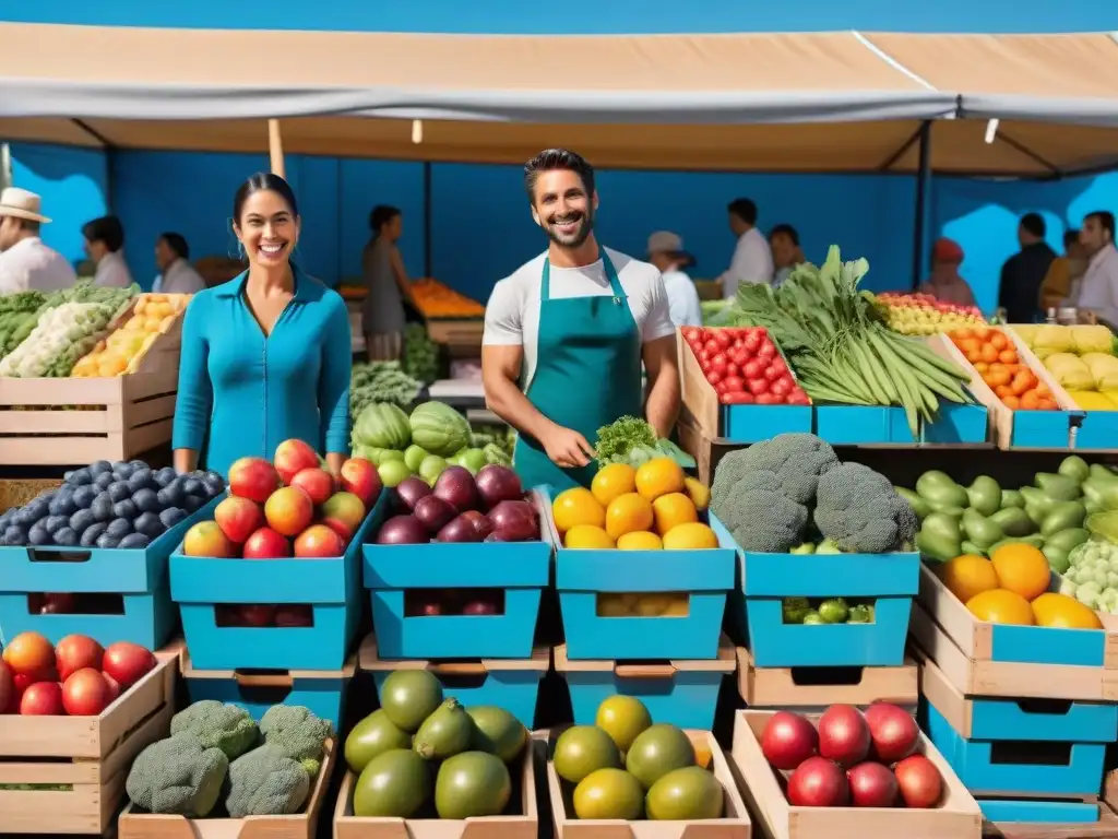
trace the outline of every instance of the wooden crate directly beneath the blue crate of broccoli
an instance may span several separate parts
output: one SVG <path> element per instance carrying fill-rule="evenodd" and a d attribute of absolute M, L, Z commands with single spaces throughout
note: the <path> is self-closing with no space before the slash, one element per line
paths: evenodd
<path fill-rule="evenodd" d="M 802 670 L 859 670 L 855 684 L 798 685 L 796 676 Z M 738 648 L 738 691 L 751 708 L 819 708 L 843 704 L 864 707 L 873 703 L 892 703 L 915 708 L 919 698 L 916 661 L 904 659 L 901 667 L 863 668 L 790 668 L 754 667 L 754 657 L 743 647 Z"/>

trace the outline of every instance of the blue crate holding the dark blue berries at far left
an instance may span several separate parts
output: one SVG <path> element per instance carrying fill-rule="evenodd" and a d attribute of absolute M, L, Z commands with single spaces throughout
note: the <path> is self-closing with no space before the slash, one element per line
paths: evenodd
<path fill-rule="evenodd" d="M 68 634 L 101 644 L 131 641 L 158 650 L 176 624 L 168 558 L 196 521 L 214 513 L 219 498 L 143 549 L 0 547 L 0 642 L 38 632 L 53 642 Z M 120 594 L 123 614 L 31 614 L 28 594 Z"/>

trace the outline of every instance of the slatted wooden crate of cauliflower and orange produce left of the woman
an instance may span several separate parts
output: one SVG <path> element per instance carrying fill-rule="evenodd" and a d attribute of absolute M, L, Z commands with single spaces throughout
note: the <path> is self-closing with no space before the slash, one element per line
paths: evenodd
<path fill-rule="evenodd" d="M 124 320 L 131 310 L 124 313 Z M 116 322 L 123 322 L 117 318 Z M 129 460 L 171 440 L 182 318 L 135 373 L 112 378 L 0 378 L 0 463 Z"/>

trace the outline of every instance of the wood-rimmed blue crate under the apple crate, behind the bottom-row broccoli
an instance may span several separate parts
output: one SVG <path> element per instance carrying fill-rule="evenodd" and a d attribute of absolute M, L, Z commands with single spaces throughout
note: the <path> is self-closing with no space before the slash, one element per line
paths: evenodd
<path fill-rule="evenodd" d="M 256 720 L 273 705 L 301 705 L 315 716 L 329 719 L 337 730 L 344 719 L 345 691 L 354 670 L 353 660 L 335 671 L 247 673 L 196 670 L 192 660 L 187 659 L 182 677 L 191 703 L 216 699 L 238 705 Z"/>

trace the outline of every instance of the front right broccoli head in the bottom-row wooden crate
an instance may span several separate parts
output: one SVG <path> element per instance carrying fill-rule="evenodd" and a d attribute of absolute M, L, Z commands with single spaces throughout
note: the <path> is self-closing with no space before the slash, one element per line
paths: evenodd
<path fill-rule="evenodd" d="M 225 809 L 234 819 L 246 816 L 292 816 L 311 794 L 311 776 L 291 757 L 260 746 L 229 764 Z"/>

